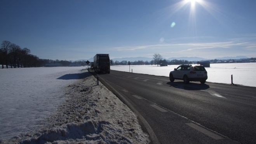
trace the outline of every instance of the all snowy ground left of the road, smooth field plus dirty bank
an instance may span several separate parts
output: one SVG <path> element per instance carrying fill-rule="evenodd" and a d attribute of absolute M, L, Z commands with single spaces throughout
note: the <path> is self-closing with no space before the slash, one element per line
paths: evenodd
<path fill-rule="evenodd" d="M 0 73 L 0 143 L 149 143 L 134 113 L 82 67 Z"/>

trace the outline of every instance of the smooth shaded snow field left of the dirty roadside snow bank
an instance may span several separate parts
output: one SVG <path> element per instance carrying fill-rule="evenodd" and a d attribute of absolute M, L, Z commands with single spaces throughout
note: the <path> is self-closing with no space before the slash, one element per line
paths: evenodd
<path fill-rule="evenodd" d="M 38 127 L 63 100 L 61 88 L 77 81 L 79 70 L 82 67 L 0 69 L 0 139 Z"/>

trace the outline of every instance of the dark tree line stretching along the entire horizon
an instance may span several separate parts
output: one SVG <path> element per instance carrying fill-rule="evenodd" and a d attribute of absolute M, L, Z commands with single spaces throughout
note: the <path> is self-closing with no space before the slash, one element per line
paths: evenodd
<path fill-rule="evenodd" d="M 246 60 L 246 59 L 244 59 Z M 256 60 L 256 58 L 248 58 L 247 60 Z M 218 62 L 220 60 L 209 60 L 209 62 Z M 243 60 L 242 60 L 243 61 Z M 11 68 L 16 67 L 43 67 L 45 64 L 51 63 L 60 63 L 62 66 L 69 66 L 70 64 L 81 64 L 87 65 L 86 61 L 76 61 L 71 62 L 67 60 L 46 60 L 40 59 L 36 55 L 31 55 L 30 50 L 28 48 L 21 48 L 19 45 L 11 43 L 10 41 L 2 41 L 0 48 L 0 64 L 2 65 L 2 69 L 4 65 L 8 69 L 8 65 Z M 182 64 L 194 64 L 197 61 L 188 61 L 188 60 L 163 60 L 162 56 L 159 53 L 155 53 L 150 62 L 138 60 L 134 62 L 127 62 L 123 60 L 122 62 L 115 61 L 111 65 L 159 65 L 160 63 L 164 63 L 165 65 L 182 65 Z"/>

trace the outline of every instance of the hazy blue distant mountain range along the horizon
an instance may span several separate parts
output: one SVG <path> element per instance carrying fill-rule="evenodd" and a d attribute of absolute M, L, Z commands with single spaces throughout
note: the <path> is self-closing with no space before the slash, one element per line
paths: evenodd
<path fill-rule="evenodd" d="M 229 59 L 234 59 L 234 60 L 239 60 L 241 58 L 248 58 L 248 57 L 245 57 L 245 56 L 237 56 L 237 57 L 222 57 L 222 58 L 214 58 L 214 59 L 217 59 L 217 60 L 229 60 Z M 202 61 L 202 60 L 212 60 L 212 59 L 207 59 L 207 58 L 200 58 L 200 57 L 171 57 L 171 58 L 163 58 L 163 60 L 188 60 L 188 61 Z M 93 62 L 93 58 L 89 58 L 89 59 L 81 59 L 81 60 L 75 60 L 75 61 L 89 61 L 89 62 Z M 143 60 L 144 62 L 145 61 L 148 61 L 150 62 L 151 60 L 153 60 L 153 57 L 152 58 L 147 58 L 147 57 L 129 57 L 129 58 L 113 58 L 111 59 L 113 60 L 113 62 L 115 61 L 119 61 L 119 62 L 122 62 L 123 60 L 126 60 L 127 62 L 135 62 L 135 61 L 138 61 L 138 60 Z"/>

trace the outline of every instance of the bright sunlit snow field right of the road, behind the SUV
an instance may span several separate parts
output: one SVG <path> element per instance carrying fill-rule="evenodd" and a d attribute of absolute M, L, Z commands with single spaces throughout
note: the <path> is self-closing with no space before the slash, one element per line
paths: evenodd
<path fill-rule="evenodd" d="M 178 66 L 130 65 L 130 72 L 169 77 L 170 71 Z M 231 75 L 233 75 L 234 84 L 256 87 L 256 63 L 212 63 L 205 69 L 208 74 L 206 82 L 231 84 Z M 129 65 L 111 66 L 111 70 L 129 72 Z"/>

